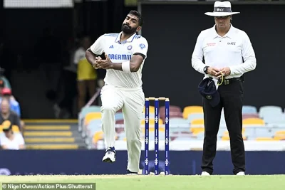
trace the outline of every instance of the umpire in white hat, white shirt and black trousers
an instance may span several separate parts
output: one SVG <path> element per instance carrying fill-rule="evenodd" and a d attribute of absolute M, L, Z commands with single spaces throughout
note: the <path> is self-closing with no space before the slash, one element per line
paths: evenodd
<path fill-rule="evenodd" d="M 233 173 L 244 175 L 243 77 L 244 73 L 256 68 L 257 60 L 247 33 L 232 26 L 232 15 L 239 12 L 232 12 L 229 1 L 216 1 L 214 11 L 205 14 L 213 16 L 215 24 L 199 33 L 192 54 L 192 67 L 204 74 L 198 87 L 204 110 L 201 175 L 213 173 L 212 162 L 216 155 L 217 133 L 223 107 L 229 131 Z"/>

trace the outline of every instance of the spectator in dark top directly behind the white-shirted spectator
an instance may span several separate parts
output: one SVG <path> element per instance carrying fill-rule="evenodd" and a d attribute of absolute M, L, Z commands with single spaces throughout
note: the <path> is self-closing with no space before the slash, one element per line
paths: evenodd
<path fill-rule="evenodd" d="M 11 122 L 11 125 L 17 125 L 19 127 L 19 130 L 23 132 L 20 117 L 16 114 L 16 112 L 10 110 L 10 103 L 7 98 L 2 98 L 0 107 L 0 123 L 4 122 L 5 120 L 9 120 Z"/>

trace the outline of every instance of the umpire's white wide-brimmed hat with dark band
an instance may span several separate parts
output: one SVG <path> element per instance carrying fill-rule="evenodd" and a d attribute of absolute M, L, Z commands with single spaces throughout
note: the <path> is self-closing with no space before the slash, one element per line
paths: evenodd
<path fill-rule="evenodd" d="M 214 2 L 214 11 L 205 13 L 208 16 L 229 16 L 239 14 L 240 12 L 232 12 L 232 5 L 229 1 L 216 1 Z"/>

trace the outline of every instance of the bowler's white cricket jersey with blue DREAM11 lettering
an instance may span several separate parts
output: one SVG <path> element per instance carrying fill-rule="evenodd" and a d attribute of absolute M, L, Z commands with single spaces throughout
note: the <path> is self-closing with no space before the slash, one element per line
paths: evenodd
<path fill-rule="evenodd" d="M 113 63 L 129 61 L 134 53 L 142 53 L 147 58 L 147 40 L 137 34 L 130 36 L 126 41 L 120 43 L 120 33 L 106 33 L 100 36 L 90 47 L 96 55 L 105 53 Z M 142 87 L 142 68 L 145 59 L 140 65 L 138 72 L 125 73 L 120 70 L 108 69 L 105 75 L 105 84 L 120 88 Z"/>

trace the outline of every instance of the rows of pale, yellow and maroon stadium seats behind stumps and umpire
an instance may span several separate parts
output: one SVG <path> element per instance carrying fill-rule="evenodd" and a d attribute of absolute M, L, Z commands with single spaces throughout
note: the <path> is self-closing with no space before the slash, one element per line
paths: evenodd
<path fill-rule="evenodd" d="M 96 109 L 95 107 L 93 109 Z M 96 147 L 98 142 L 103 142 L 102 123 L 100 112 L 89 110 L 81 114 L 83 116 L 83 125 L 86 127 L 86 144 Z M 245 141 L 279 141 L 285 140 L 285 114 L 281 107 L 262 106 L 258 110 L 252 105 L 244 105 L 242 108 L 242 136 Z M 155 126 L 155 107 L 150 106 L 149 115 L 150 140 L 154 139 Z M 160 138 L 165 136 L 165 106 L 159 108 L 159 132 Z M 125 141 L 124 117 L 123 112 L 115 114 L 117 139 Z M 180 140 L 200 140 L 204 139 L 204 114 L 202 106 L 188 105 L 178 107 L 170 105 L 170 139 L 172 141 Z M 145 135 L 145 110 L 142 111 L 141 137 Z M 220 127 L 217 139 L 222 141 L 229 140 L 224 110 L 222 110 Z"/>

